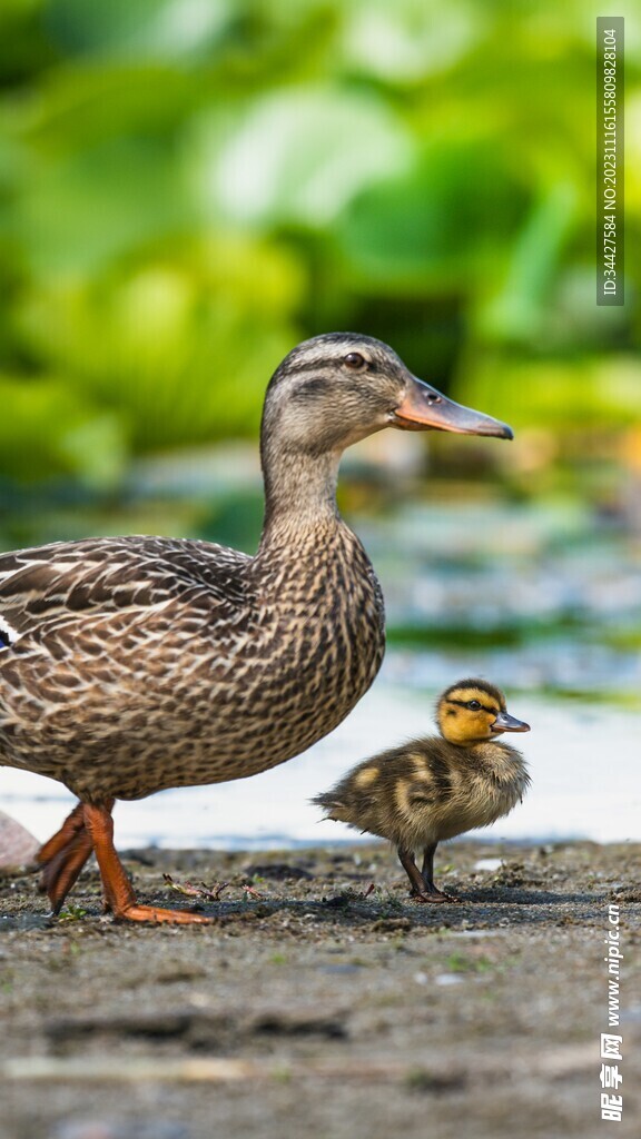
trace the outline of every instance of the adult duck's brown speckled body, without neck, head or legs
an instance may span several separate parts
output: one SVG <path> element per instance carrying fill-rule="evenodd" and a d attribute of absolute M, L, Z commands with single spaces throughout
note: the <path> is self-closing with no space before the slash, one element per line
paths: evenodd
<path fill-rule="evenodd" d="M 262 771 L 331 731 L 379 670 L 383 608 L 347 526 L 306 546 L 295 574 L 285 556 L 262 572 L 154 538 L 0 558 L 6 620 L 36 620 L 0 659 L 5 762 L 87 802 L 139 798 Z"/>

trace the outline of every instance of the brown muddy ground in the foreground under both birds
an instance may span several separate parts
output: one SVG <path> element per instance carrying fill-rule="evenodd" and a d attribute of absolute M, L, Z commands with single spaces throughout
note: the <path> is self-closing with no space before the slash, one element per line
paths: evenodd
<path fill-rule="evenodd" d="M 33 876 L 0 882 L 2 1139 L 639 1136 L 641 845 L 454 843 L 437 880 L 461 902 L 438 907 L 384 845 L 124 861 L 157 904 L 228 883 L 196 899 L 218 920 L 117 925 L 91 869 L 51 920 Z"/>

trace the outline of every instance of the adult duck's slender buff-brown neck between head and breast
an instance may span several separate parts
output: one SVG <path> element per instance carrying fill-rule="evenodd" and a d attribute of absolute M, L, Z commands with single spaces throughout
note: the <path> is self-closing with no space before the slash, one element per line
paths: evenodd
<path fill-rule="evenodd" d="M 259 552 L 273 546 L 306 544 L 314 533 L 336 526 L 340 452 L 263 454 L 265 522 Z"/>

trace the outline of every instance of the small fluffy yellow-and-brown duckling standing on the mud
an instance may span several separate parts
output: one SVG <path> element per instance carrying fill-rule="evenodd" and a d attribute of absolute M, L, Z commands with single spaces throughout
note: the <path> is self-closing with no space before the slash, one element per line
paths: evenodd
<path fill-rule="evenodd" d="M 508 713 L 500 688 L 456 681 L 438 699 L 437 722 L 440 737 L 380 752 L 313 800 L 327 819 L 389 838 L 417 902 L 457 901 L 435 885 L 438 843 L 509 814 L 530 782 L 520 752 L 496 740 L 504 731 L 529 731 Z"/>

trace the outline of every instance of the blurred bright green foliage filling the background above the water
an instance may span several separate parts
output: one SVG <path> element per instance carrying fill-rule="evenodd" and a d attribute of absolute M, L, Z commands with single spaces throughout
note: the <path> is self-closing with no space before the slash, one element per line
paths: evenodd
<path fill-rule="evenodd" d="M 598 309 L 608 10 L 3 0 L 2 485 L 114 492 L 132 456 L 254 435 L 278 360 L 332 328 L 526 432 L 632 437 L 636 462 L 641 19 L 627 300 Z"/>

